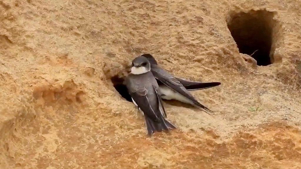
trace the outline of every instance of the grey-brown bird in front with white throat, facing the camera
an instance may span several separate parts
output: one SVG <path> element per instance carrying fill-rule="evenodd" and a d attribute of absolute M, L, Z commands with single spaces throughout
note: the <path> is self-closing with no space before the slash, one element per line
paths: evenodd
<path fill-rule="evenodd" d="M 133 103 L 143 112 L 147 134 L 176 129 L 165 119 L 166 112 L 160 97 L 159 85 L 151 72 L 151 64 L 138 56 L 132 61 L 131 72 L 125 79 L 126 88 Z"/>

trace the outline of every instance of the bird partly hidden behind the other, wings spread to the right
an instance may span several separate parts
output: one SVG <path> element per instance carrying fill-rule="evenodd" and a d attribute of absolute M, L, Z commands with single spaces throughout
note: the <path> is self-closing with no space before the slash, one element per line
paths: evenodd
<path fill-rule="evenodd" d="M 188 90 L 200 90 L 219 85 L 219 82 L 202 83 L 187 81 L 181 78 L 173 77 L 169 72 L 158 66 L 157 61 L 151 54 L 142 54 L 141 56 L 147 58 L 151 65 L 151 72 L 157 79 L 161 97 L 165 100 L 178 100 L 183 103 L 191 104 L 198 107 L 209 114 L 213 111 L 206 106 L 199 103 Z M 185 85 L 185 86 L 184 86 Z M 186 89 L 186 87 L 188 89 Z"/>

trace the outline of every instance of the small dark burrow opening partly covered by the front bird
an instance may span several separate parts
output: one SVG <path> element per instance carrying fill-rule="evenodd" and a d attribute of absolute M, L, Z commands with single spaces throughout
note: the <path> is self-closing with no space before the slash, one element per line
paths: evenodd
<path fill-rule="evenodd" d="M 111 78 L 111 81 L 114 88 L 116 89 L 116 91 L 118 91 L 121 97 L 125 98 L 129 102 L 133 102 L 128 89 L 126 88 L 126 85 L 123 84 L 124 78 L 120 78 L 118 75 L 115 75 Z"/>

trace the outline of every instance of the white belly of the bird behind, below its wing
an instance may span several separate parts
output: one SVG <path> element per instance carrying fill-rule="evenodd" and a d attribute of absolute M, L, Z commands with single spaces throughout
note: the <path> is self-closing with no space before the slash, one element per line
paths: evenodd
<path fill-rule="evenodd" d="M 159 88 L 160 88 L 162 99 L 165 99 L 165 100 L 178 100 L 178 101 L 183 102 L 183 103 L 191 104 L 191 101 L 189 99 L 187 99 L 186 97 L 182 96 L 181 94 L 173 91 L 169 87 L 167 87 L 165 85 L 162 85 L 162 86 L 159 86 Z"/>

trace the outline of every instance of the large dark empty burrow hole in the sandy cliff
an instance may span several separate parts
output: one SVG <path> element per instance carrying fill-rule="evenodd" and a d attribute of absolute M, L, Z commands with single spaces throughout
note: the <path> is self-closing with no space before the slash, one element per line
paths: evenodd
<path fill-rule="evenodd" d="M 274 63 L 278 23 L 275 12 L 251 10 L 249 12 L 230 12 L 227 17 L 228 29 L 240 53 L 248 54 L 259 66 Z"/>

